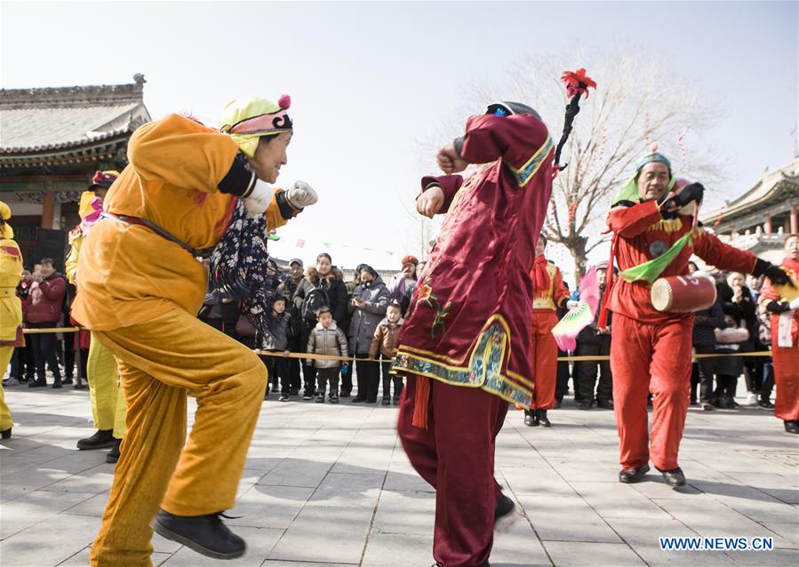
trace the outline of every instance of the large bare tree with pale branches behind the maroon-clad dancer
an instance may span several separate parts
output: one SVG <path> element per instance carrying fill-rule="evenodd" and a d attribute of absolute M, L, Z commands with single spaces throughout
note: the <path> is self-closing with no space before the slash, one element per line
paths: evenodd
<path fill-rule="evenodd" d="M 608 238 L 602 233 L 611 196 L 652 144 L 672 158 L 681 176 L 706 183 L 719 179 L 720 162 L 707 144 L 703 150 L 691 143 L 718 113 L 704 108 L 697 92 L 657 61 L 619 53 L 540 56 L 518 63 L 507 84 L 467 86 L 465 100 L 472 113 L 491 100 L 531 104 L 557 143 L 568 102 L 559 77 L 576 67 L 586 67 L 597 88 L 580 102 L 581 112 L 563 148 L 561 162 L 568 167 L 555 179 L 544 233 L 569 249 L 582 275 L 587 253 Z M 458 120 L 462 123 L 463 116 Z"/>

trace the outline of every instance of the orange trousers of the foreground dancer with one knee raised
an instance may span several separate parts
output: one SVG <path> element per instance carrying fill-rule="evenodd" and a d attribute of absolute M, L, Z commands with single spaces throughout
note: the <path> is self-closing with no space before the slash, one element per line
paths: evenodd
<path fill-rule="evenodd" d="M 128 409 L 92 566 L 151 565 L 150 521 L 164 508 L 205 515 L 233 507 L 267 371 L 258 356 L 182 309 L 92 331 L 116 357 Z M 186 439 L 188 392 L 196 397 Z M 184 443 L 186 446 L 184 447 Z"/>

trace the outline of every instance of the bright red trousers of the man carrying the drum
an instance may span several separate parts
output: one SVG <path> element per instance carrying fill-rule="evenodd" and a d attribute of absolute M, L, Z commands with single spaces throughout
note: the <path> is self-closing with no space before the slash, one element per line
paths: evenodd
<path fill-rule="evenodd" d="M 618 313 L 611 327 L 613 404 L 623 468 L 677 465 L 691 395 L 690 317 L 647 324 Z M 652 393 L 652 433 L 646 399 Z M 651 451 L 651 453 L 650 453 Z"/>

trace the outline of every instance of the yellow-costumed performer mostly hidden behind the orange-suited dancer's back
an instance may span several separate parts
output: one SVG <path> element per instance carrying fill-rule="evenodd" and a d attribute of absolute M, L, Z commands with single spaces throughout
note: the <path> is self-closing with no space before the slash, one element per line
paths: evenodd
<path fill-rule="evenodd" d="M 81 195 L 78 208 L 81 221 L 69 233 L 70 249 L 64 269 L 70 284 L 76 284 L 77 264 L 84 238 L 88 236 L 94 223 L 100 220 L 103 199 L 117 177 L 119 177 L 119 172 L 95 172 L 92 185 Z M 86 372 L 92 399 L 92 418 L 97 431 L 94 435 L 80 439 L 77 442 L 77 448 L 92 450 L 110 447 L 111 451 L 108 451 L 106 461 L 116 463 L 119 459 L 119 446 L 124 435 L 126 410 L 124 393 L 118 386 L 114 355 L 98 340 L 91 340 L 89 343 Z"/>

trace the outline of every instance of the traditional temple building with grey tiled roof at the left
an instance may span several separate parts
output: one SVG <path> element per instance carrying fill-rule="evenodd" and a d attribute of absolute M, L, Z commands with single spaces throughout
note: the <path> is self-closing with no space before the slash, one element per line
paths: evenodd
<path fill-rule="evenodd" d="M 150 120 L 144 76 L 133 81 L 0 90 L 0 200 L 11 206 L 26 265 L 40 232 L 79 222 L 78 200 L 93 173 L 127 164 L 132 132 Z"/>

